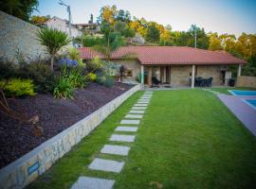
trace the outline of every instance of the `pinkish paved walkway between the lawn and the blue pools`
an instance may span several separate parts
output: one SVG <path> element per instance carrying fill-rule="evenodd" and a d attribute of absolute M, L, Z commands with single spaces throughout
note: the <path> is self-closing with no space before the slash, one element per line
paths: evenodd
<path fill-rule="evenodd" d="M 256 96 L 236 96 L 227 94 L 218 94 L 217 96 L 247 129 L 256 136 L 256 110 L 243 101 L 243 99 L 256 99 Z"/>

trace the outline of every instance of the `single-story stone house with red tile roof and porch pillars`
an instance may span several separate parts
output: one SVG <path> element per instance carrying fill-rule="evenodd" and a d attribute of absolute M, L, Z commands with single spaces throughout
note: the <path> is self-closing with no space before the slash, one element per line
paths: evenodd
<path fill-rule="evenodd" d="M 90 47 L 79 50 L 83 60 L 92 60 L 95 56 L 104 59 Z M 141 84 L 151 85 L 155 76 L 173 87 L 194 87 L 195 77 L 212 77 L 212 85 L 221 86 L 231 75 L 230 65 L 237 66 L 240 76 L 242 65 L 247 63 L 224 51 L 187 46 L 122 46 L 112 53 L 111 60 L 127 68 L 129 79 L 136 79 L 141 74 L 144 77 Z"/>

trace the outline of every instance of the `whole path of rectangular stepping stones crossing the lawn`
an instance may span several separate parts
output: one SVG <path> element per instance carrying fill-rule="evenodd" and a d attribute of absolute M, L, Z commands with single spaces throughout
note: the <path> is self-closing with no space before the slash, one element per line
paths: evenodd
<path fill-rule="evenodd" d="M 143 114 L 146 112 L 148 104 L 150 103 L 152 91 L 146 91 L 138 100 L 134 107 L 124 116 L 125 119 L 120 121 L 120 126 L 115 131 L 120 132 L 137 132 L 140 120 L 143 119 Z M 136 139 L 136 135 L 128 134 L 112 134 L 109 141 L 113 143 L 133 143 Z M 128 156 L 130 146 L 119 145 L 104 145 L 101 148 L 102 154 L 110 154 L 114 156 Z M 105 160 L 101 158 L 95 158 L 88 168 L 94 171 L 104 171 L 119 173 L 124 166 L 124 162 Z M 102 178 L 84 177 L 81 176 L 71 187 L 71 189 L 112 189 L 114 187 L 115 180 L 106 180 Z"/>

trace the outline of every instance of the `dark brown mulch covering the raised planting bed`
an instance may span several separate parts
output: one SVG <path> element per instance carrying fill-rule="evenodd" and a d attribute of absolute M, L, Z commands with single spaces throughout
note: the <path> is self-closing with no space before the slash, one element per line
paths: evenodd
<path fill-rule="evenodd" d="M 47 139 L 72 126 L 91 112 L 130 89 L 131 85 L 116 83 L 107 88 L 91 83 L 76 91 L 75 99 L 55 99 L 51 94 L 37 94 L 16 99 L 28 117 L 39 115 L 42 137 L 35 137 L 27 124 L 19 123 L 0 112 L 0 168 L 20 158 Z M 12 100 L 9 100 L 14 107 Z"/>

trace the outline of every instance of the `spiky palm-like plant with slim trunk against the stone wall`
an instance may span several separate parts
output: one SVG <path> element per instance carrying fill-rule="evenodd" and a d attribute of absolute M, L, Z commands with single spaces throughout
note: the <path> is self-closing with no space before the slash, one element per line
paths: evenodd
<path fill-rule="evenodd" d="M 37 37 L 39 42 L 46 46 L 46 51 L 50 55 L 50 68 L 53 71 L 53 62 L 56 54 L 62 47 L 71 42 L 66 33 L 54 28 L 41 28 Z"/>

